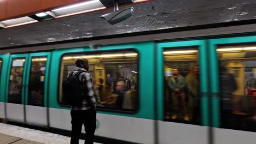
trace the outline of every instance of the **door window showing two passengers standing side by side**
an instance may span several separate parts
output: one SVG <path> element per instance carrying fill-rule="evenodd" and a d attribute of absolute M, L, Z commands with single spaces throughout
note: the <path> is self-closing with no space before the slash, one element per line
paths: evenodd
<path fill-rule="evenodd" d="M 163 55 L 165 120 L 200 124 L 197 49 L 166 49 Z"/>

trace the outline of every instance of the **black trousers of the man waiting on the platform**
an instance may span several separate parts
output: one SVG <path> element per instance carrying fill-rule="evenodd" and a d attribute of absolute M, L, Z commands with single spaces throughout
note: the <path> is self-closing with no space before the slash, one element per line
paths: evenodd
<path fill-rule="evenodd" d="M 82 125 L 85 128 L 85 144 L 94 143 L 94 133 L 96 129 L 96 111 L 89 110 L 71 110 L 71 144 L 78 144 L 81 135 Z"/>

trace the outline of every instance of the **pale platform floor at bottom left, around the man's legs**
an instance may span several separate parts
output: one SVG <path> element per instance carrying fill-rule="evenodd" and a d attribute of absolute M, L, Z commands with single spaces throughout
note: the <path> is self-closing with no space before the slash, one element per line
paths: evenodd
<path fill-rule="evenodd" d="M 0 123 L 0 144 L 69 144 L 69 142 L 68 136 Z M 84 144 L 84 140 L 79 140 L 79 144 Z"/>

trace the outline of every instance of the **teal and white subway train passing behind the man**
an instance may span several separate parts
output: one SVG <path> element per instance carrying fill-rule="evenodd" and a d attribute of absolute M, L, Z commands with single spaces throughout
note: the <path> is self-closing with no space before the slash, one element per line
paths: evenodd
<path fill-rule="evenodd" d="M 1 50 L 0 117 L 70 131 L 62 82 L 84 57 L 98 97 L 96 141 L 255 143 L 255 26 Z"/>

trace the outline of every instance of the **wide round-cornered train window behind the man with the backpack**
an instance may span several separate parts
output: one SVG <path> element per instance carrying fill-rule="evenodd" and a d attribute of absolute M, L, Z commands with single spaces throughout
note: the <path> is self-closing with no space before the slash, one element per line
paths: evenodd
<path fill-rule="evenodd" d="M 88 59 L 98 107 L 124 111 L 136 109 L 138 54 L 134 51 L 64 55 L 59 85 L 60 104 L 63 104 L 61 83 L 75 69 L 75 60 L 79 57 Z"/>

